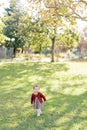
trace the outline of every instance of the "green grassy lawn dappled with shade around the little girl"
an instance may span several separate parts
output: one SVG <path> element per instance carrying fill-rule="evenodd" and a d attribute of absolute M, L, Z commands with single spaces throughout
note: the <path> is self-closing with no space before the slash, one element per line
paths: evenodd
<path fill-rule="evenodd" d="M 47 97 L 40 117 L 34 84 Z M 87 130 L 87 63 L 0 63 L 0 130 Z"/>

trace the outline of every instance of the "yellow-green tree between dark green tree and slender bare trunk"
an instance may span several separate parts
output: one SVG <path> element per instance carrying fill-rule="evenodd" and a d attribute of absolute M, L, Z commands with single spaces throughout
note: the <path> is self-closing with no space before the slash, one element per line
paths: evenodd
<path fill-rule="evenodd" d="M 47 45 L 49 45 L 49 38 L 46 37 L 48 31 L 47 27 L 44 26 L 44 23 L 41 21 L 41 19 L 35 20 L 34 22 L 31 22 L 31 24 L 31 47 L 42 53 L 42 48 L 45 48 Z"/>

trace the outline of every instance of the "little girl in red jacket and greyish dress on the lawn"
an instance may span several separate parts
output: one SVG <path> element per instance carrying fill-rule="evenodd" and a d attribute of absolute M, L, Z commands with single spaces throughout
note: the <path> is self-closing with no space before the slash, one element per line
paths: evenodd
<path fill-rule="evenodd" d="M 33 87 L 34 92 L 31 95 L 31 104 L 34 105 L 34 108 L 37 111 L 37 116 L 40 116 L 42 114 L 41 108 L 43 107 L 43 102 L 46 101 L 46 97 L 39 92 L 39 86 L 35 85 Z"/>

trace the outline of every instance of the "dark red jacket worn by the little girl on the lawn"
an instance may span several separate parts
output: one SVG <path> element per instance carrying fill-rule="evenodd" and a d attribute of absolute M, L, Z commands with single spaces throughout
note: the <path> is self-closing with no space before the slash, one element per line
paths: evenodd
<path fill-rule="evenodd" d="M 40 101 L 40 103 L 43 103 L 43 100 L 46 101 L 46 97 L 41 93 L 38 92 L 37 95 L 35 95 L 34 93 L 31 96 L 31 104 L 35 103 L 35 98 L 38 98 L 38 100 Z"/>

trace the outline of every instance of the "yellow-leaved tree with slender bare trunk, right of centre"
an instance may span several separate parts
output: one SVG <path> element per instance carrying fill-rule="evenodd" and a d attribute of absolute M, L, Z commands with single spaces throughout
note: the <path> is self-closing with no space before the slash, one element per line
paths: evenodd
<path fill-rule="evenodd" d="M 38 1 L 38 0 L 37 0 Z M 40 3 L 40 1 L 38 1 Z M 37 3 L 37 5 L 38 5 Z M 67 29 L 67 22 L 69 26 L 76 24 L 76 17 L 75 12 L 77 5 L 73 1 L 57 1 L 54 0 L 48 0 L 43 1 L 44 7 L 39 7 L 40 11 L 38 15 L 40 14 L 40 18 L 42 21 L 44 21 L 44 25 L 47 26 L 48 29 L 48 37 L 51 40 L 51 48 L 52 48 L 52 61 L 54 62 L 54 48 L 56 44 L 56 39 L 59 38 L 59 44 L 65 44 L 67 47 L 74 46 L 76 42 L 78 42 L 79 38 L 78 36 L 75 37 L 73 34 L 71 35 L 71 32 L 68 32 L 68 34 L 61 35 L 58 34 L 58 28 L 66 28 Z M 70 36 L 71 35 L 71 36 Z M 77 39 L 77 40 L 76 40 Z"/>

